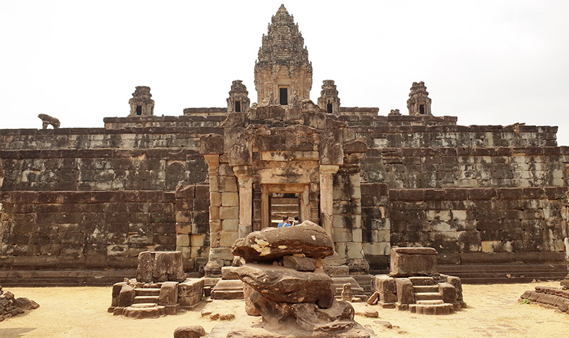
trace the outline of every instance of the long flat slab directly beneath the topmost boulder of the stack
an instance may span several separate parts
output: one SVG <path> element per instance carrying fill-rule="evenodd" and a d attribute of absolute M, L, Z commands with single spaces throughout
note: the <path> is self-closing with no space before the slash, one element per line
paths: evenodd
<path fill-rule="evenodd" d="M 330 303 L 332 279 L 321 273 L 304 273 L 279 265 L 246 263 L 239 279 L 273 301 Z M 331 305 L 331 304 L 330 304 Z"/>

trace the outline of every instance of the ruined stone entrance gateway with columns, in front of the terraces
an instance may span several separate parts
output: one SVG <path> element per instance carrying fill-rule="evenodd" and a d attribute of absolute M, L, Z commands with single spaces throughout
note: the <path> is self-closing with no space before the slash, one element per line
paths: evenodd
<path fill-rule="evenodd" d="M 200 139 L 210 184 L 210 267 L 229 265 L 237 238 L 270 226 L 272 197 L 284 194 L 298 196 L 300 222 L 322 226 L 340 259 L 367 265 L 359 174 L 365 139 L 309 100 L 232 112 L 222 126 L 223 135 Z"/>

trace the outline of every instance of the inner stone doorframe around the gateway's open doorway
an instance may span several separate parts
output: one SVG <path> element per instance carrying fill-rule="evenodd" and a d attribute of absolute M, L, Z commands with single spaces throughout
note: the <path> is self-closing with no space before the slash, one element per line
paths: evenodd
<path fill-rule="evenodd" d="M 310 183 L 265 183 L 261 184 L 261 229 L 270 225 L 269 194 L 292 193 L 300 196 L 299 220 L 310 219 Z"/>

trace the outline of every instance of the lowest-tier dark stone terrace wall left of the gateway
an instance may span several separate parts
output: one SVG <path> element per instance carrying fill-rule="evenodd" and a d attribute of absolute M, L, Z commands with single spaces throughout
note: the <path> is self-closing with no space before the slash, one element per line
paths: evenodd
<path fill-rule="evenodd" d="M 175 249 L 173 192 L 1 192 L 2 269 L 132 268 Z"/>

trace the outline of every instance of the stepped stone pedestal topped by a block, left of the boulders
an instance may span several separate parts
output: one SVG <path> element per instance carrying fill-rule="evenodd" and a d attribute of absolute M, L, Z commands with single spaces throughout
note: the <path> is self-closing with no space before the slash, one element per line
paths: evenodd
<path fill-rule="evenodd" d="M 180 251 L 144 251 L 137 277 L 113 285 L 108 312 L 130 318 L 175 315 L 201 301 L 204 281 L 186 278 Z"/>

